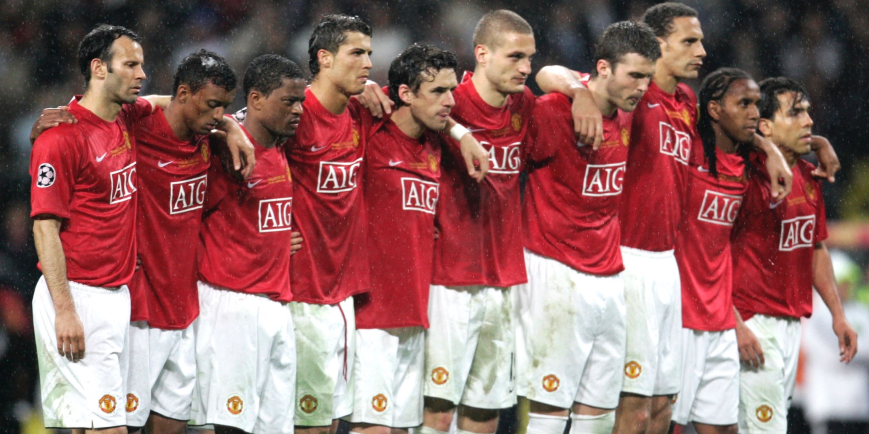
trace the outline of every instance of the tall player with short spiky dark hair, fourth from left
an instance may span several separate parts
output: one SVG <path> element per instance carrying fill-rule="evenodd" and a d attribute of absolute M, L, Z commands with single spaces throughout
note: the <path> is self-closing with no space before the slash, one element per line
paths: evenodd
<path fill-rule="evenodd" d="M 319 434 L 353 411 L 353 295 L 368 292 L 368 241 L 361 165 L 381 123 L 353 95 L 366 89 L 371 28 L 357 16 L 324 16 L 308 43 L 314 75 L 306 115 L 287 144 L 295 174 L 295 225 L 308 240 L 291 264 L 299 366 L 297 431 Z M 374 85 L 376 87 L 376 85 Z M 388 104 L 387 104 L 388 106 Z M 383 109 L 391 109 L 384 107 Z M 464 167 L 485 163 L 473 136 L 461 136 Z M 474 171 L 481 177 L 486 169 Z"/>

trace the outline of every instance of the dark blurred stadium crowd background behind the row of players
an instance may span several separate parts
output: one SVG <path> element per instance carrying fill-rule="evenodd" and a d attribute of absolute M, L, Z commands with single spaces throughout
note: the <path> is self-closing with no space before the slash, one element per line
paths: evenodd
<path fill-rule="evenodd" d="M 30 298 L 39 276 L 30 233 L 30 127 L 41 109 L 83 91 L 75 69 L 79 40 L 97 23 L 136 30 L 144 38 L 145 94 L 168 94 L 176 64 L 200 48 L 226 56 L 241 76 L 255 56 L 278 53 L 308 64 L 308 36 L 326 13 L 359 15 L 374 27 L 372 78 L 385 83 L 388 64 L 410 43 L 435 43 L 473 69 L 471 35 L 487 10 L 506 7 L 534 26 L 534 69 L 560 63 L 588 70 L 594 40 L 608 24 L 636 19 L 647 0 L 0 0 L 0 433 L 40 432 Z M 700 11 L 708 56 L 701 76 L 720 66 L 756 79 L 791 76 L 811 94 L 815 133 L 826 135 L 843 170 L 824 195 L 833 247 L 851 255 L 846 293 L 857 331 L 869 335 L 866 249 L 869 248 L 869 7 L 866 0 L 691 0 Z M 697 86 L 697 82 L 690 83 Z M 535 89 L 536 90 L 536 89 Z M 230 109 L 242 107 L 241 95 Z M 839 271 L 839 270 L 837 270 Z M 844 273 L 844 272 L 843 272 Z M 844 278 L 843 278 L 844 279 Z M 844 281 L 844 280 L 843 280 Z M 824 310 L 822 305 L 818 305 Z M 853 312 L 853 313 L 851 313 Z M 859 317 L 859 320 L 854 318 Z M 813 319 L 814 320 L 814 319 Z M 820 321 L 821 319 L 817 319 Z M 829 325 L 806 332 L 808 388 L 798 395 L 809 424 L 845 432 L 840 422 L 869 420 L 869 344 L 843 367 Z M 831 340 L 832 339 L 832 340 Z M 832 344 L 831 344 L 832 342 Z M 839 375 L 812 383 L 812 364 Z M 819 366 L 819 365 L 816 365 Z M 843 371 L 844 370 L 844 371 Z M 817 371 L 817 369 L 816 369 Z M 848 385 L 852 395 L 837 395 Z M 817 391 L 832 391 L 817 403 Z M 829 396 L 827 396 L 829 395 Z M 838 398 L 837 398 L 838 397 Z M 840 403 L 856 401 L 846 410 Z M 36 404 L 35 404 L 36 403 Z M 807 432 L 794 425 L 792 432 Z M 859 426 L 869 432 L 869 425 Z M 824 431 L 814 431 L 824 432 Z"/>

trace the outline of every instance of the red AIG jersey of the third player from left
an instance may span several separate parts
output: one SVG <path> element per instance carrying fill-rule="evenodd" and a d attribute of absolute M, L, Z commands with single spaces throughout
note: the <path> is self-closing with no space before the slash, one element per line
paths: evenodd
<path fill-rule="evenodd" d="M 247 181 L 236 181 L 212 156 L 199 235 L 199 279 L 239 293 L 290 301 L 293 178 L 281 146 L 263 148 L 248 137 L 256 166 Z"/>

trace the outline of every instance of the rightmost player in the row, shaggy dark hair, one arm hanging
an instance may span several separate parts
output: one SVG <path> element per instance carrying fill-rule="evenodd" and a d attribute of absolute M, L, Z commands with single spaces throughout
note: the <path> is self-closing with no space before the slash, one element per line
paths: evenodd
<path fill-rule="evenodd" d="M 793 192 L 770 193 L 764 155 L 753 154 L 748 189 L 733 227 L 733 304 L 740 359 L 740 432 L 786 432 L 799 358 L 802 317 L 812 315 L 812 287 L 833 315 L 841 361 L 857 352 L 857 333 L 836 291 L 824 245 L 826 214 L 813 165 L 806 89 L 787 78 L 760 82 L 760 133 L 793 169 Z"/>

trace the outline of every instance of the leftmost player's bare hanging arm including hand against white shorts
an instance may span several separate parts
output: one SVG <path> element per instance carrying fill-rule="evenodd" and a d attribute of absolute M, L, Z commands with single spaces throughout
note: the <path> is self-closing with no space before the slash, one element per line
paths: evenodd
<path fill-rule="evenodd" d="M 84 327 L 66 279 L 66 255 L 60 241 L 60 217 L 38 214 L 33 221 L 33 240 L 45 283 L 54 304 L 57 352 L 72 361 L 84 357 Z"/>

